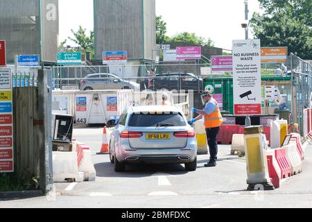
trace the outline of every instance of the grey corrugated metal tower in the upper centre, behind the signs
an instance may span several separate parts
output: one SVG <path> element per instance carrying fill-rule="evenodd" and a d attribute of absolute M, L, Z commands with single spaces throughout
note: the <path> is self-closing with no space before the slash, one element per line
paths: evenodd
<path fill-rule="evenodd" d="M 151 58 L 155 0 L 94 0 L 96 59 L 103 51 L 128 51 L 130 59 Z M 155 34 L 156 35 L 156 34 Z M 150 53 L 148 53 L 150 51 Z M 144 56 L 145 54 L 145 56 Z"/>

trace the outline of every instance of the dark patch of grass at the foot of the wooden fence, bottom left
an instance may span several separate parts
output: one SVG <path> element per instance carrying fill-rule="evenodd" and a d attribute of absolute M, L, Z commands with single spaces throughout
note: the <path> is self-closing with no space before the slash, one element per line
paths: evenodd
<path fill-rule="evenodd" d="M 27 191 L 39 188 L 38 178 L 23 178 L 15 173 L 0 173 L 1 191 Z"/>

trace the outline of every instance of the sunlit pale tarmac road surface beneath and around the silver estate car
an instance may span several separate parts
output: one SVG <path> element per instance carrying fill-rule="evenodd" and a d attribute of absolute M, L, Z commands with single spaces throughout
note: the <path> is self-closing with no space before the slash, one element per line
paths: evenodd
<path fill-rule="evenodd" d="M 110 137 L 108 130 L 108 137 Z M 217 167 L 205 168 L 209 155 L 198 157 L 195 172 L 180 164 L 127 167 L 115 173 L 101 150 L 103 128 L 76 128 L 74 137 L 92 151 L 95 182 L 55 183 L 55 193 L 40 198 L 0 200 L 0 207 L 104 207 L 104 208 L 254 208 L 312 207 L 312 150 L 306 148 L 303 172 L 282 180 L 274 191 L 246 191 L 245 157 L 229 155 L 219 146 Z"/>

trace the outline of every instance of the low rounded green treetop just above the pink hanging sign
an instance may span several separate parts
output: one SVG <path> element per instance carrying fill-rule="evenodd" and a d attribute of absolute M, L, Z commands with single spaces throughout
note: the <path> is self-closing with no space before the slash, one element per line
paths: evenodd
<path fill-rule="evenodd" d="M 214 46 L 214 42 L 210 38 L 205 39 L 204 37 L 199 37 L 195 33 L 178 33 L 170 39 L 171 42 L 184 42 L 186 44 L 196 44 L 200 46 Z"/>

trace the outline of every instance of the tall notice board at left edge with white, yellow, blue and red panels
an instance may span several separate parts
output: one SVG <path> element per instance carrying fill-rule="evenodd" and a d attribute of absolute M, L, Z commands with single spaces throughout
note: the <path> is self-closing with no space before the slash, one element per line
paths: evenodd
<path fill-rule="evenodd" d="M 14 172 L 11 79 L 10 69 L 0 69 L 0 173 Z"/>

